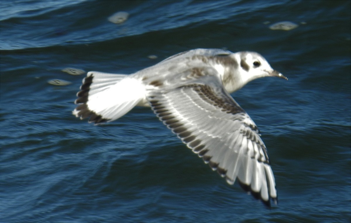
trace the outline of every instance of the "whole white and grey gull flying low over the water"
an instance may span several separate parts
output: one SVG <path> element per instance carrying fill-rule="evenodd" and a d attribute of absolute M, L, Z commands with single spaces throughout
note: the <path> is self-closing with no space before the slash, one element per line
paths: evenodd
<path fill-rule="evenodd" d="M 130 75 L 90 71 L 72 112 L 100 124 L 135 106 L 150 106 L 186 146 L 229 184 L 267 206 L 277 204 L 276 182 L 258 127 L 230 96 L 260 77 L 280 77 L 256 52 L 193 49 Z"/>

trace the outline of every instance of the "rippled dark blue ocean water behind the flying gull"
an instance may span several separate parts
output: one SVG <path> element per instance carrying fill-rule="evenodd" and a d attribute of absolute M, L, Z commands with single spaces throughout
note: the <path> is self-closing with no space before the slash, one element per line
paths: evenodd
<path fill-rule="evenodd" d="M 350 8 L 2 0 L 0 222 L 350 222 Z M 281 21 L 298 27 L 269 29 Z M 84 75 L 62 69 L 130 74 L 194 48 L 257 51 L 289 77 L 232 94 L 260 128 L 278 205 L 228 185 L 148 108 L 99 126 L 72 115 Z"/>

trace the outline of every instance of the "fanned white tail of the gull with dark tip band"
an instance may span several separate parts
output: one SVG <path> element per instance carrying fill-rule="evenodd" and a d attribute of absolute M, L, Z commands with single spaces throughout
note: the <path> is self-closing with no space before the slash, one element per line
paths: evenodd
<path fill-rule="evenodd" d="M 73 115 L 95 124 L 120 118 L 145 98 L 145 86 L 131 75 L 88 72 Z"/>

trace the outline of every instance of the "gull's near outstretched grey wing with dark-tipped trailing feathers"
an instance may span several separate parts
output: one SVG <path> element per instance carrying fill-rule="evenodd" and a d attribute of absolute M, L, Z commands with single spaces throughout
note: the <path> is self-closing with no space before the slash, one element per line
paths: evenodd
<path fill-rule="evenodd" d="M 214 72 L 213 69 L 207 70 Z M 218 75 L 151 91 L 148 100 L 163 123 L 229 184 L 266 205 L 277 201 L 267 149 L 249 115 L 223 88 Z"/>

